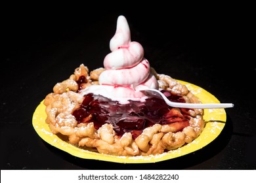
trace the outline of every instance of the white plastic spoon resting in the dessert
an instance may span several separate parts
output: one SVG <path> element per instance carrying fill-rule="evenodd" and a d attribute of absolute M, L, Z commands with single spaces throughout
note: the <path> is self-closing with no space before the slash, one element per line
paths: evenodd
<path fill-rule="evenodd" d="M 156 96 L 158 93 L 161 95 L 165 103 L 171 107 L 180 107 L 180 108 L 229 108 L 229 107 L 234 107 L 234 104 L 232 103 L 176 103 L 169 101 L 167 97 L 163 93 L 161 93 L 159 90 L 156 89 L 140 89 L 139 91 L 141 92 L 146 92 L 149 95 L 154 95 Z"/>

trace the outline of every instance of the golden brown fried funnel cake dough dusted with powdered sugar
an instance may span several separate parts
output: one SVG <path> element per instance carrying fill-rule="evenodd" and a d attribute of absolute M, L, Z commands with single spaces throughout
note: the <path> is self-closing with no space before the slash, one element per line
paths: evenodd
<path fill-rule="evenodd" d="M 46 123 L 54 134 L 66 135 L 71 144 L 80 148 L 95 148 L 102 154 L 148 156 L 179 148 L 194 141 L 202 133 L 205 126 L 202 109 L 188 110 L 191 116 L 190 125 L 184 127 L 182 131 L 175 132 L 176 127 L 172 124 L 155 124 L 144 129 L 135 140 L 131 133 L 117 136 L 111 124 L 104 124 L 96 130 L 93 122 L 90 121 L 90 116 L 85 118 L 83 123 L 77 124 L 72 112 L 83 102 L 83 97 L 77 93 L 79 86 L 76 81 L 80 76 L 84 76 L 86 83 L 83 84 L 83 88 L 98 84 L 98 76 L 102 71 L 104 69 L 99 68 L 89 74 L 89 69 L 81 64 L 70 78 L 57 83 L 53 93 L 45 97 Z M 185 85 L 171 76 L 158 74 L 153 68 L 150 71 L 158 79 L 160 88 L 182 95 L 186 103 L 200 103 L 200 100 Z M 180 112 L 179 108 L 172 110 Z"/>

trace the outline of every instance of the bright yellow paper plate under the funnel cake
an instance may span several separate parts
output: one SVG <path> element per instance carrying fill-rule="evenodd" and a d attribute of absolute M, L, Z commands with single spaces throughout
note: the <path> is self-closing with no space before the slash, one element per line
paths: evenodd
<path fill-rule="evenodd" d="M 188 90 L 196 95 L 202 103 L 220 103 L 214 95 L 203 90 L 203 88 L 182 80 L 179 80 L 179 82 L 185 84 L 188 87 Z M 207 144 L 216 139 L 223 130 L 226 122 L 226 112 L 223 108 L 204 109 L 203 118 L 207 122 L 205 129 L 203 129 L 201 135 L 190 144 L 186 144 L 177 150 L 171 150 L 157 156 L 126 157 L 99 154 L 98 152 L 91 152 L 73 146 L 60 139 L 57 135 L 51 133 L 48 124 L 45 123 L 46 117 L 45 105 L 43 105 L 43 101 L 41 101 L 33 113 L 32 123 L 35 131 L 44 141 L 79 158 L 97 159 L 116 163 L 154 163 L 190 154 L 191 152 L 195 152 L 196 150 L 200 150 L 204 146 L 207 146 Z"/>

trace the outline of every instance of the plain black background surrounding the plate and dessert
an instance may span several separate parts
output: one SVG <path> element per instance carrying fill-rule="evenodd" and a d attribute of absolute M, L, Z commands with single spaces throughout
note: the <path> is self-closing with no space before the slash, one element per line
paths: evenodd
<path fill-rule="evenodd" d="M 249 10 L 6 8 L 1 23 L 1 169 L 256 168 L 256 67 L 249 58 L 251 44 L 245 43 L 253 42 Z M 132 41 L 142 44 L 144 57 L 158 73 L 196 84 L 221 103 L 234 103 L 226 108 L 226 125 L 211 144 L 154 165 L 122 164 L 76 158 L 37 135 L 32 126 L 37 105 L 81 63 L 90 70 L 103 66 L 121 14 Z"/>

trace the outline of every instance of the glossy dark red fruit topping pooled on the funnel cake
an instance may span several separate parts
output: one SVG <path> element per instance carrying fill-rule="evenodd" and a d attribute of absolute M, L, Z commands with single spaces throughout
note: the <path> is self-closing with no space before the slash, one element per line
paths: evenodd
<path fill-rule="evenodd" d="M 184 103 L 181 96 L 172 95 L 165 90 L 162 92 L 169 100 Z M 177 131 L 188 126 L 188 109 L 181 108 L 181 112 L 172 109 L 158 97 L 150 97 L 144 103 L 130 101 L 121 105 L 118 101 L 89 93 L 85 95 L 81 106 L 74 110 L 73 115 L 78 123 L 93 122 L 96 129 L 103 124 L 112 124 L 116 135 L 131 132 L 133 139 L 136 139 L 143 129 L 154 124 L 171 124 Z"/>

